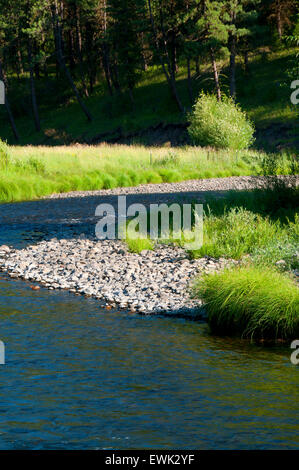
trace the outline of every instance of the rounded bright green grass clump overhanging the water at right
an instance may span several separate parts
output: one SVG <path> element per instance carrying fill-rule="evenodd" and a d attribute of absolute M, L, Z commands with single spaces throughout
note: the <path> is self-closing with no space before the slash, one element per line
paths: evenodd
<path fill-rule="evenodd" d="M 299 289 L 271 268 L 238 267 L 196 281 L 212 333 L 251 339 L 299 336 Z"/>

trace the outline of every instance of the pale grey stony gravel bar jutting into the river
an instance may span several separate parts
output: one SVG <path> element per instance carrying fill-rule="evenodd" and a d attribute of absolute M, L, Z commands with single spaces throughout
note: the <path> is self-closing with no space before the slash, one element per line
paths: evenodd
<path fill-rule="evenodd" d="M 130 253 L 124 243 L 111 240 L 54 238 L 22 250 L 0 247 L 0 270 L 10 277 L 144 314 L 196 314 L 201 304 L 190 295 L 194 277 L 231 263 L 236 262 L 190 260 L 182 248 L 169 245 Z"/>

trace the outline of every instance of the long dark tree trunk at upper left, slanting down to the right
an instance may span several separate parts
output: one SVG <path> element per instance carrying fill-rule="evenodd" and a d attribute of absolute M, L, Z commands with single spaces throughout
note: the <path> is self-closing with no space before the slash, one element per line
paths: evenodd
<path fill-rule="evenodd" d="M 75 95 L 76 95 L 77 101 L 78 101 L 79 105 L 81 106 L 82 111 L 84 112 L 87 119 L 89 121 L 92 121 L 92 116 L 91 116 L 89 110 L 87 109 L 87 107 L 85 106 L 84 102 L 82 101 L 80 93 L 79 93 L 79 91 L 78 91 L 78 89 L 77 89 L 77 87 L 74 83 L 73 77 L 72 77 L 69 69 L 67 68 L 67 66 L 65 64 L 65 60 L 64 60 L 64 57 L 63 57 L 63 54 L 62 54 L 61 27 L 60 27 L 59 18 L 58 18 L 58 9 L 57 9 L 57 1 L 56 0 L 54 0 L 51 3 L 51 12 L 52 12 L 52 21 L 53 21 L 53 29 L 54 29 L 54 37 L 55 37 L 56 56 L 57 56 L 59 66 L 63 70 L 63 72 L 65 73 L 65 75 L 66 75 L 66 77 L 67 77 L 67 79 L 68 79 Z"/>

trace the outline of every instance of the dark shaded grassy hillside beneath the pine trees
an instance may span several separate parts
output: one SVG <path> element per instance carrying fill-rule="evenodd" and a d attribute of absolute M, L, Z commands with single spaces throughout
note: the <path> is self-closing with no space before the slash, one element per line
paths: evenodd
<path fill-rule="evenodd" d="M 290 88 L 285 76 L 288 64 L 296 52 L 296 49 L 292 48 L 272 53 L 263 51 L 251 56 L 249 74 L 244 72 L 241 63 L 238 64 L 238 102 L 259 131 L 256 142 L 258 148 L 273 151 L 278 145 L 288 148 L 296 148 L 298 145 L 296 108 L 290 103 Z M 221 64 L 219 66 L 221 68 Z M 228 90 L 226 66 L 227 64 L 222 64 L 221 71 L 224 92 Z M 178 91 L 188 112 L 193 103 L 188 97 L 186 76 L 185 64 L 181 64 L 178 72 Z M 200 76 L 194 76 L 192 86 L 194 97 L 198 96 L 202 89 L 213 90 L 209 63 L 201 64 Z M 126 136 L 161 122 L 180 123 L 187 119 L 186 115 L 178 113 L 159 67 L 152 67 L 143 74 L 134 91 L 134 108 L 126 95 L 109 96 L 105 85 L 100 81 L 94 94 L 86 99 L 94 118 L 91 123 L 86 121 L 71 92 L 65 88 L 64 80 L 57 82 L 54 74 L 50 74 L 47 79 L 41 79 L 37 87 L 42 120 L 42 131 L 39 133 L 34 130 L 31 116 L 28 78 L 24 76 L 20 80 L 11 79 L 14 94 L 10 101 L 22 145 L 62 145 L 78 141 L 90 143 L 92 138 L 99 134 L 111 133 L 110 137 L 113 137 L 119 128 L 122 135 Z M 14 143 L 4 108 L 0 109 L 0 129 L 0 137 Z M 151 136 L 148 137 L 151 142 Z M 144 139 L 147 140 L 147 137 L 136 137 L 141 143 Z M 102 137 L 102 140 L 105 138 Z"/>

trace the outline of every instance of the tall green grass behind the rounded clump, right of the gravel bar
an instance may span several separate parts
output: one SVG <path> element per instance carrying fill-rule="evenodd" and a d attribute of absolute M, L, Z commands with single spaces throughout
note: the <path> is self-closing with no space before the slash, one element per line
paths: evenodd
<path fill-rule="evenodd" d="M 240 259 L 251 255 L 257 264 L 275 264 L 284 259 L 285 267 L 297 267 L 298 214 L 293 222 L 283 224 L 242 207 L 231 208 L 225 209 L 222 215 L 208 212 L 203 226 L 203 246 L 191 252 L 194 258 Z"/>

